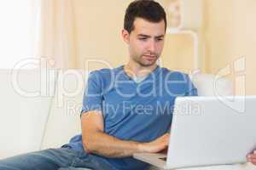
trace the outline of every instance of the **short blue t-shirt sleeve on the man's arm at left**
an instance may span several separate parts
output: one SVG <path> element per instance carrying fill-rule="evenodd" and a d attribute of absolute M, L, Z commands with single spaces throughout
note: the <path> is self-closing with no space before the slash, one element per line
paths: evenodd
<path fill-rule="evenodd" d="M 97 71 L 92 71 L 88 77 L 81 115 L 88 111 L 102 111 L 102 81 Z"/>

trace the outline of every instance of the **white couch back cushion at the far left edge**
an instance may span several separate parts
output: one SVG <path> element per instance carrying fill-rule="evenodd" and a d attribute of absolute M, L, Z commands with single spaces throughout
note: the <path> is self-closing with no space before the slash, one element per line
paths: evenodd
<path fill-rule="evenodd" d="M 0 158 L 40 149 L 55 88 L 45 73 L 0 70 Z"/>

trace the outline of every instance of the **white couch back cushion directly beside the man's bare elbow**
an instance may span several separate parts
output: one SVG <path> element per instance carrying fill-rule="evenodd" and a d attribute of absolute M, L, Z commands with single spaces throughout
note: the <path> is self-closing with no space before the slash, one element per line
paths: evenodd
<path fill-rule="evenodd" d="M 85 73 L 82 70 L 60 70 L 49 120 L 41 149 L 60 147 L 74 135 L 81 133 L 80 111 Z"/>

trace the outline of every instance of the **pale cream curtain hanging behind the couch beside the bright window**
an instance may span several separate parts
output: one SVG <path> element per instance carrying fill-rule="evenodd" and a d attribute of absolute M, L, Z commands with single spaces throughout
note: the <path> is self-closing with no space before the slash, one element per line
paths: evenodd
<path fill-rule="evenodd" d="M 42 0 L 41 57 L 51 68 L 75 68 L 75 15 L 73 0 Z"/>

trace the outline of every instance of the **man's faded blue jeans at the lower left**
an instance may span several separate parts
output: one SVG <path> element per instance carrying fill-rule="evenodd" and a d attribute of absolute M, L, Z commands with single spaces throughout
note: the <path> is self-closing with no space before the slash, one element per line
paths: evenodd
<path fill-rule="evenodd" d="M 58 148 L 40 150 L 0 160 L 0 170 L 113 170 L 100 156 L 84 150 Z"/>

